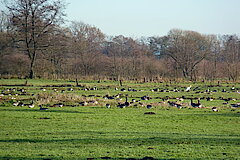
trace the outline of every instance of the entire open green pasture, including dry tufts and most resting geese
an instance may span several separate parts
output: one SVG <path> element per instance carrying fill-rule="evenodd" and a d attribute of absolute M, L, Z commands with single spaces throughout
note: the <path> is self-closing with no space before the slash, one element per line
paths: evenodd
<path fill-rule="evenodd" d="M 240 158 L 240 84 L 0 84 L 0 159 Z"/>

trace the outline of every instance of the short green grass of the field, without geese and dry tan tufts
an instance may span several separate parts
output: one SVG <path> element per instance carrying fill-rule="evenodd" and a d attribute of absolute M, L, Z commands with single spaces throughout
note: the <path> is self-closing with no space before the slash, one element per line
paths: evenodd
<path fill-rule="evenodd" d="M 17 100 L 36 98 L 43 93 L 40 88 L 53 84 L 72 84 L 70 81 L 31 80 L 32 86 L 16 86 L 24 80 L 0 80 L 2 91 L 7 88 L 25 88 L 27 93 L 34 95 L 6 95 L 0 99 L 0 159 L 240 159 L 240 109 L 232 110 L 223 105 L 222 100 L 202 103 L 206 108 L 186 107 L 181 110 L 169 106 L 110 109 L 103 105 L 50 108 L 41 111 L 38 107 L 13 107 Z M 81 87 L 73 87 L 74 91 L 64 94 L 82 95 L 116 95 L 123 93 L 114 90 L 119 87 L 117 82 L 80 81 L 81 85 L 97 86 L 97 91 L 83 91 Z M 230 92 L 232 86 L 239 84 L 223 84 L 229 93 L 195 92 L 151 92 L 159 88 L 182 88 L 190 84 L 138 84 L 126 83 L 123 87 L 142 89 L 141 92 L 124 92 L 128 97 L 140 99 L 143 95 L 153 97 L 145 103 L 157 103 L 156 97 L 169 96 L 176 98 L 219 96 L 235 97 L 239 102 L 239 94 Z M 192 84 L 206 90 L 206 84 Z M 119 87 L 119 88 L 123 88 Z M 44 93 L 53 92 L 54 87 L 46 87 Z M 61 87 L 67 89 L 69 87 Z M 188 100 L 185 100 L 188 103 Z M 220 111 L 212 112 L 211 106 Z M 154 112 L 154 115 L 146 115 Z"/>

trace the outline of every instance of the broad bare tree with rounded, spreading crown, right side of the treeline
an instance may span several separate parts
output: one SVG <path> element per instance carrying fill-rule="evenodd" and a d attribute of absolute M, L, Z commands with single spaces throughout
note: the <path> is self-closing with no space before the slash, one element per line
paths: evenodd
<path fill-rule="evenodd" d="M 211 53 L 211 38 L 193 31 L 171 30 L 162 53 L 174 60 L 185 78 L 192 79 L 196 66 Z"/>

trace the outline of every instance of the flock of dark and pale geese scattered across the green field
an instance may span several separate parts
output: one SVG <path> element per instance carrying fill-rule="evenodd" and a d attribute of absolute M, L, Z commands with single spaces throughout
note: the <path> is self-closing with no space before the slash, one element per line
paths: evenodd
<path fill-rule="evenodd" d="M 189 86 L 187 87 L 186 89 L 183 89 L 183 90 L 178 90 L 177 88 L 174 88 L 172 90 L 168 90 L 168 89 L 159 89 L 159 88 L 156 88 L 156 89 L 151 89 L 152 92 L 189 92 L 190 90 L 193 90 L 193 91 L 196 91 L 195 93 L 198 93 L 199 91 L 197 91 L 199 88 L 196 87 L 194 89 L 192 89 L 192 86 Z M 46 89 L 45 88 L 41 88 L 41 90 L 43 92 L 46 92 Z M 83 88 L 84 91 L 88 91 L 88 90 L 98 90 L 97 87 L 92 87 L 92 88 Z M 125 88 L 121 88 L 121 89 L 118 89 L 118 88 L 115 88 L 115 90 L 119 90 L 121 92 L 126 92 L 126 91 L 129 91 L 129 92 L 137 92 L 136 89 L 132 89 L 132 88 L 128 88 L 128 89 L 125 89 Z M 234 87 L 231 88 L 231 90 L 235 90 Z M 17 95 L 29 95 L 27 94 L 26 90 L 25 89 L 16 89 L 16 88 L 11 88 L 11 89 L 6 89 L 5 91 L 2 91 L 2 93 L 0 94 L 0 97 L 1 96 L 4 96 L 4 95 L 13 95 L 14 92 L 17 92 L 15 94 L 15 96 Z M 54 92 L 58 92 L 58 90 L 55 88 L 53 89 Z M 67 91 L 73 91 L 73 88 L 68 88 Z M 144 90 L 140 90 L 140 91 L 144 91 Z M 61 92 L 65 92 L 65 90 L 61 90 Z M 213 90 L 213 91 L 210 91 L 209 89 L 203 91 L 203 92 L 200 92 L 200 93 L 210 93 L 210 92 L 217 92 L 217 90 Z M 225 89 L 222 89 L 221 92 L 227 92 Z M 235 91 L 237 92 L 238 94 L 240 94 L 240 92 L 238 91 Z M 31 95 L 31 94 L 30 94 Z M 33 95 L 33 94 L 32 94 Z M 94 96 L 94 95 L 93 95 Z M 100 97 L 100 96 L 99 96 Z M 109 96 L 109 95 L 105 95 L 103 96 L 102 98 L 103 99 L 107 99 L 107 100 L 121 100 L 121 98 L 124 97 L 124 94 L 117 94 L 116 96 Z M 14 99 L 14 98 L 12 98 Z M 148 100 L 151 100 L 152 97 L 150 96 L 142 96 L 140 97 L 141 100 L 135 100 L 135 99 L 132 99 L 132 101 L 128 101 L 128 95 L 125 94 L 125 102 L 118 102 L 117 105 L 115 105 L 116 107 L 119 107 L 119 108 L 126 108 L 126 107 L 129 107 L 129 106 L 145 106 L 146 108 L 148 109 L 151 109 L 153 108 L 153 105 L 150 103 L 150 104 L 146 104 L 146 103 L 143 103 L 142 101 L 144 102 L 147 102 Z M 162 103 L 162 104 L 166 104 L 168 106 L 172 106 L 172 107 L 176 107 L 178 109 L 181 109 L 182 107 L 186 106 L 186 103 L 181 103 L 182 101 L 186 101 L 186 100 L 189 100 L 189 104 L 188 106 L 191 106 L 193 108 L 203 108 L 203 105 L 201 104 L 200 100 L 201 99 L 206 99 L 207 101 L 213 101 L 214 98 L 212 97 L 204 97 L 204 98 L 195 98 L 197 99 L 197 102 L 193 102 L 193 98 L 186 98 L 184 96 L 180 97 L 180 98 L 176 98 L 177 101 L 170 101 L 170 99 L 173 99 L 173 98 L 170 98 L 168 96 L 164 97 L 164 98 L 161 98 L 162 101 L 159 102 L 159 103 Z M 219 97 L 219 100 L 223 100 L 224 103 L 223 104 L 228 104 L 229 101 L 236 101 L 236 99 L 234 98 L 223 98 L 223 97 Z M 79 105 L 82 105 L 82 106 L 87 106 L 89 103 L 92 103 L 92 104 L 95 104 L 97 105 L 98 104 L 98 101 L 95 101 L 95 100 L 92 100 L 92 101 L 83 101 L 83 102 L 80 102 Z M 105 104 L 105 107 L 106 108 L 111 108 L 113 105 L 113 103 L 106 103 Z M 13 106 L 28 106 L 29 108 L 34 108 L 35 107 L 35 104 L 34 104 L 34 101 L 32 100 L 31 103 L 28 103 L 28 104 L 24 104 L 23 102 L 20 102 L 20 101 L 17 101 L 17 102 L 13 102 Z M 64 104 L 63 103 L 57 103 L 57 104 L 54 104 L 52 106 L 49 106 L 49 107 L 63 107 Z M 235 107 L 235 108 L 238 108 L 240 107 L 240 103 L 234 103 L 234 104 L 230 104 L 231 107 Z M 45 108 L 43 107 L 42 105 L 39 105 L 39 108 L 40 110 L 48 110 L 49 108 Z M 212 111 L 214 112 L 218 112 L 218 108 L 217 107 L 212 107 L 211 108 Z"/>

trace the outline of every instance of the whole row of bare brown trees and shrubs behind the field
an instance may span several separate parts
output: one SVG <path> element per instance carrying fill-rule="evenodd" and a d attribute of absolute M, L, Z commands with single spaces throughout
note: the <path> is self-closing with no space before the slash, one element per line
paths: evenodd
<path fill-rule="evenodd" d="M 0 74 L 18 77 L 219 79 L 236 81 L 240 38 L 171 30 L 162 37 L 106 36 L 66 27 L 58 0 L 11 0 L 0 13 Z"/>

